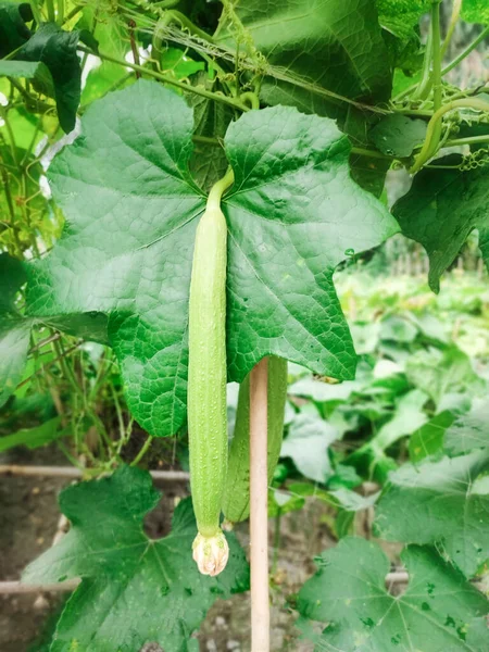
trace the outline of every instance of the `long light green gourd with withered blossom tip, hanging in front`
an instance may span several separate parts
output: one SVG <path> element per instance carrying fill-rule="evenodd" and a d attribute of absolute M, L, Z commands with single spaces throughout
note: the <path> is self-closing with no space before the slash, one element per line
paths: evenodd
<path fill-rule="evenodd" d="M 193 559 L 204 575 L 221 573 L 229 554 L 220 527 L 227 468 L 225 179 L 211 190 L 197 227 L 189 299 L 190 484 L 199 530 Z"/>

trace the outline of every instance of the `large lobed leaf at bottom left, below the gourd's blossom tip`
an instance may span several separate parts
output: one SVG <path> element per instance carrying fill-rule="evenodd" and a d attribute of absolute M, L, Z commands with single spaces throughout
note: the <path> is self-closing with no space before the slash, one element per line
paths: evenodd
<path fill-rule="evenodd" d="M 61 493 L 72 528 L 23 575 L 27 584 L 83 579 L 58 623 L 51 652 L 133 651 L 150 641 L 181 652 L 217 598 L 247 590 L 248 565 L 234 535 L 227 536 L 229 562 L 218 578 L 197 569 L 189 499 L 175 510 L 167 537 L 146 536 L 142 519 L 159 500 L 150 474 L 130 467 Z"/>

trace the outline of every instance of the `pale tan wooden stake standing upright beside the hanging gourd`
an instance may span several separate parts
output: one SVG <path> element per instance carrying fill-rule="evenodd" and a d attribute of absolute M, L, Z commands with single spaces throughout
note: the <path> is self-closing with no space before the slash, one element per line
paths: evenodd
<path fill-rule="evenodd" d="M 251 652 L 269 651 L 267 376 L 264 358 L 250 375 Z"/>

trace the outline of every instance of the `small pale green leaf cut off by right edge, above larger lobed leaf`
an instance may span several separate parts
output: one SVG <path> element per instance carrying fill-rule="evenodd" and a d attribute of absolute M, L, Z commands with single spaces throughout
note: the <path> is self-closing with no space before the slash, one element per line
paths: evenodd
<path fill-rule="evenodd" d="M 443 448 L 450 455 L 489 448 L 489 402 L 477 403 L 460 416 L 444 434 Z"/>

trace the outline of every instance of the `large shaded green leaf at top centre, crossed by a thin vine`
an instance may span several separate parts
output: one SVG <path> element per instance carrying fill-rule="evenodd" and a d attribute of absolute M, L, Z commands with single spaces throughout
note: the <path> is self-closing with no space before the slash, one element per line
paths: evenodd
<path fill-rule="evenodd" d="M 331 104 L 324 89 L 376 101 L 390 97 L 389 58 L 373 0 L 247 0 L 237 13 L 271 65 L 318 89 L 267 78 L 267 103 L 325 115 Z"/>

